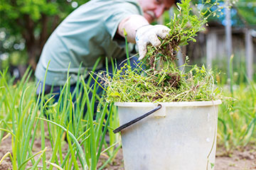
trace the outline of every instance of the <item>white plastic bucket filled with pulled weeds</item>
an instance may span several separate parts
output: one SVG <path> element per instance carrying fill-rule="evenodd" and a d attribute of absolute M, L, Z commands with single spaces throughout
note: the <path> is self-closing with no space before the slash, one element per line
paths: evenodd
<path fill-rule="evenodd" d="M 160 103 L 159 111 L 122 130 L 124 169 L 214 169 L 220 103 L 220 100 Z M 115 103 L 120 125 L 158 104 Z"/>

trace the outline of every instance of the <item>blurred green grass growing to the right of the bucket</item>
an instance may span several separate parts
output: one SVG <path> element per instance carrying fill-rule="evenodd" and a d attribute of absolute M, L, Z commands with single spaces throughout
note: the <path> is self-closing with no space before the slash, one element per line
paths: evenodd
<path fill-rule="evenodd" d="M 223 86 L 226 97 L 219 108 L 218 143 L 227 152 L 248 144 L 256 144 L 256 84 Z"/>

